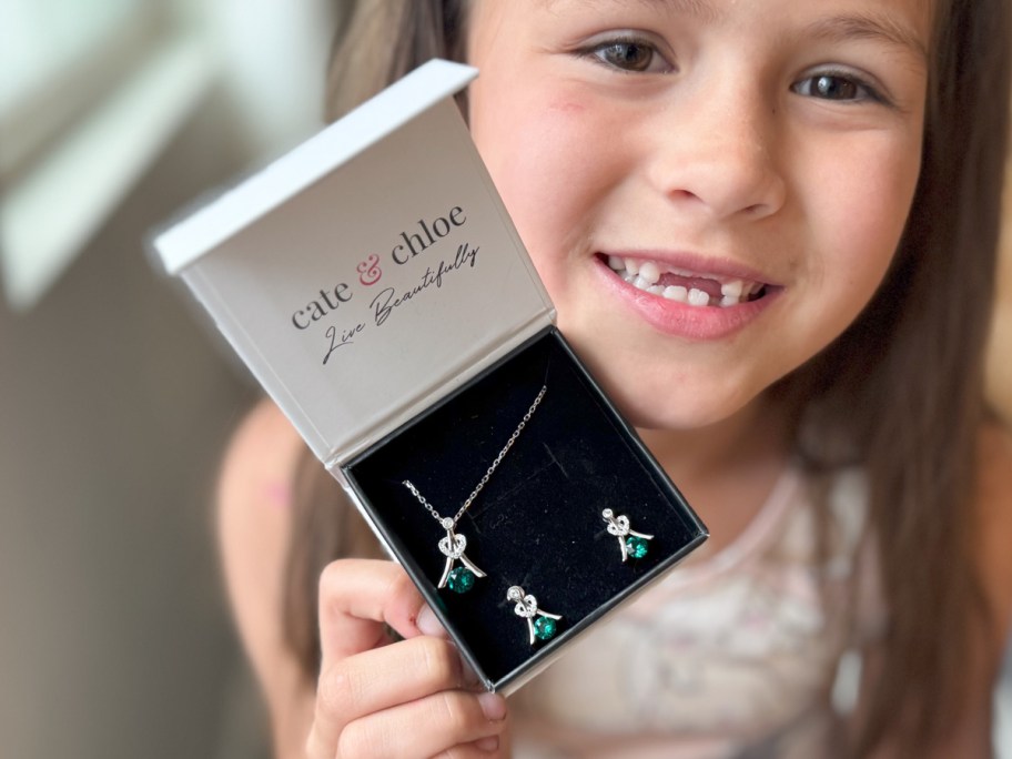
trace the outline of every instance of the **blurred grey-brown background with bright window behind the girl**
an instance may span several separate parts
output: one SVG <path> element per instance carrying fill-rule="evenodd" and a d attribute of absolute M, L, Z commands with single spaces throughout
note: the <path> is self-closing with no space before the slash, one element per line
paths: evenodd
<path fill-rule="evenodd" d="M 210 507 L 255 388 L 144 240 L 318 129 L 335 4 L 0 3 L 4 759 L 266 757 Z M 1012 421 L 1010 231 L 989 387 Z"/>

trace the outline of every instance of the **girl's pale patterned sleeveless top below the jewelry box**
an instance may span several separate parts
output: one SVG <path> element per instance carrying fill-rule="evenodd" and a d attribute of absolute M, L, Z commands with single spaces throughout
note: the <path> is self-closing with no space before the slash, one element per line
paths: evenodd
<path fill-rule="evenodd" d="M 786 469 L 737 540 L 675 569 L 510 699 L 514 757 L 826 756 L 841 652 L 883 624 L 873 579 L 857 620 L 840 613 L 866 504 L 860 474 L 834 478 L 820 561 L 804 482 Z"/>

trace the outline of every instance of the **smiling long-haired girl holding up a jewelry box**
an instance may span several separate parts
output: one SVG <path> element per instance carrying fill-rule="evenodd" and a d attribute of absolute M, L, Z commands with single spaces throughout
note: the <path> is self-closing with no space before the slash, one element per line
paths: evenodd
<path fill-rule="evenodd" d="M 347 558 L 377 549 L 262 405 L 221 527 L 277 756 L 986 756 L 1009 2 L 384 0 L 346 29 L 334 115 L 432 55 L 480 69 L 462 108 L 559 327 L 712 537 L 507 710 L 397 567 Z"/>

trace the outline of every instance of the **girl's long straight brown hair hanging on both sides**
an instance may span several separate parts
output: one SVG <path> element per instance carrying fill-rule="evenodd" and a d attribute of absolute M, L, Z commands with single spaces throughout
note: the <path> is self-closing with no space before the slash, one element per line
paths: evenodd
<path fill-rule="evenodd" d="M 463 60 L 465 4 L 346 3 L 328 118 L 429 58 Z M 935 0 L 934 18 L 920 182 L 890 272 L 861 316 L 776 387 L 799 429 L 847 441 L 850 461 L 868 474 L 890 625 L 858 756 L 887 733 L 915 756 L 957 723 L 968 651 L 998 621 L 989 618 L 974 563 L 980 527 L 972 506 L 975 441 L 986 413 L 983 353 L 1009 133 L 1012 11 L 1010 0 Z M 813 470 L 840 463 L 839 449 L 800 435 L 797 445 Z M 290 645 L 315 678 L 316 578 L 337 556 L 378 548 L 308 455 L 296 492 L 285 620 Z"/>

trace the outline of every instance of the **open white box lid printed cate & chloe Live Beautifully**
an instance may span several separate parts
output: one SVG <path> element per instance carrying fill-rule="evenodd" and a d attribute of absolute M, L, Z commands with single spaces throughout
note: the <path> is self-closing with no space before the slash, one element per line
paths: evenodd
<path fill-rule="evenodd" d="M 154 240 L 328 466 L 551 323 L 431 61 Z"/>

